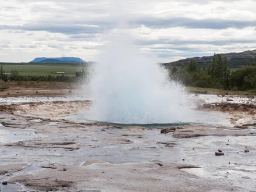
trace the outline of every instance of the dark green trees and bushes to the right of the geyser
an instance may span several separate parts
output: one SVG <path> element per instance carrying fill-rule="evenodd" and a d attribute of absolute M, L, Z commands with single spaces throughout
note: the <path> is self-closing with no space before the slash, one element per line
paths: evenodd
<path fill-rule="evenodd" d="M 222 58 L 221 54 L 215 54 L 208 65 L 198 65 L 192 60 L 187 66 L 170 67 L 169 72 L 172 79 L 182 81 L 186 86 L 225 90 L 256 89 L 256 63 L 248 62 L 246 66 L 231 72 L 226 58 Z"/>

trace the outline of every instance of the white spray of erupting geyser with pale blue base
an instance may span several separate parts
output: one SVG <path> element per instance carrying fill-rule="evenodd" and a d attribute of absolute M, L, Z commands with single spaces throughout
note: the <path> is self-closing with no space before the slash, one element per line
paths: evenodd
<path fill-rule="evenodd" d="M 188 122 L 184 87 L 140 54 L 127 34 L 110 38 L 95 64 L 91 120 L 125 124 Z"/>

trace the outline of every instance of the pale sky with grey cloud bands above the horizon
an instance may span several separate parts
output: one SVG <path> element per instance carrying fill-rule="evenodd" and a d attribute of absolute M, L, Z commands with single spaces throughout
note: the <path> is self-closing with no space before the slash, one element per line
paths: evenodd
<path fill-rule="evenodd" d="M 97 61 L 116 31 L 158 62 L 254 50 L 255 8 L 256 0 L 0 0 L 0 62 Z"/>

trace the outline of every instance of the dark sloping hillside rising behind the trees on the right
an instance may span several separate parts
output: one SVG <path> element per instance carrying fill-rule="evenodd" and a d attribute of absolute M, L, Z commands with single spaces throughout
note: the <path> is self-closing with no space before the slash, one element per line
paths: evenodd
<path fill-rule="evenodd" d="M 239 53 L 229 53 L 229 54 L 221 54 L 222 58 L 227 59 L 227 65 L 230 68 L 239 68 L 246 65 L 247 62 L 256 62 L 256 49 L 253 51 L 244 51 Z M 202 57 L 194 57 L 181 59 L 179 61 L 163 63 L 165 66 L 180 66 L 180 65 L 188 65 L 191 60 L 195 60 L 199 65 L 207 64 L 212 61 L 212 56 L 202 56 Z"/>

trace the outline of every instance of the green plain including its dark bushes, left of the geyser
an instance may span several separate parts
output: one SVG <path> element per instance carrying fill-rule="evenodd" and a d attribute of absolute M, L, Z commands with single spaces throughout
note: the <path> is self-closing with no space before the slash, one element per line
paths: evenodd
<path fill-rule="evenodd" d="M 85 76 L 86 71 L 86 65 L 10 63 L 1 65 L 0 80 L 75 81 Z"/>

